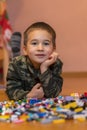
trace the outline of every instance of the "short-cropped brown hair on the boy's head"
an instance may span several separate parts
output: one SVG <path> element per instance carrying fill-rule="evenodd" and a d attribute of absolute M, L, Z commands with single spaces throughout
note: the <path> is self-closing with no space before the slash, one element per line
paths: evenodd
<path fill-rule="evenodd" d="M 28 34 L 35 30 L 35 29 L 43 29 L 46 30 L 48 33 L 50 33 L 52 35 L 52 42 L 53 42 L 53 46 L 54 48 L 56 47 L 55 44 L 55 40 L 56 40 L 56 33 L 55 30 L 47 23 L 45 22 L 36 22 L 33 23 L 32 25 L 30 25 L 24 32 L 24 45 L 26 45 L 27 41 L 28 41 Z"/>

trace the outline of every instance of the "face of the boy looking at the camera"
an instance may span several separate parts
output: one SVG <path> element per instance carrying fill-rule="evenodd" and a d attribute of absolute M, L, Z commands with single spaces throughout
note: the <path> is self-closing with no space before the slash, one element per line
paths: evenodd
<path fill-rule="evenodd" d="M 54 51 L 51 34 L 41 29 L 31 31 L 24 51 L 33 65 L 38 68 Z"/>

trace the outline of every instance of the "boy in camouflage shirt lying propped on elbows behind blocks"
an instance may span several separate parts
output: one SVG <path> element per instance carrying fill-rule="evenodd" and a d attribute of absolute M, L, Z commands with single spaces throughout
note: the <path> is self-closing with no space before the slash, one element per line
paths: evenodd
<path fill-rule="evenodd" d="M 6 93 L 9 99 L 53 98 L 62 90 L 63 63 L 58 58 L 56 33 L 45 22 L 33 23 L 24 32 L 24 54 L 8 67 Z"/>

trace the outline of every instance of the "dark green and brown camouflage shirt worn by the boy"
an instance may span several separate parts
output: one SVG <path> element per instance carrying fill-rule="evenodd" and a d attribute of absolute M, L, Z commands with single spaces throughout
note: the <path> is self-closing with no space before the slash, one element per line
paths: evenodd
<path fill-rule="evenodd" d="M 6 93 L 9 99 L 25 98 L 37 83 L 42 84 L 45 97 L 58 96 L 63 84 L 63 79 L 60 76 L 62 65 L 63 63 L 58 59 L 41 74 L 40 69 L 35 69 L 27 56 L 13 58 L 7 72 Z"/>

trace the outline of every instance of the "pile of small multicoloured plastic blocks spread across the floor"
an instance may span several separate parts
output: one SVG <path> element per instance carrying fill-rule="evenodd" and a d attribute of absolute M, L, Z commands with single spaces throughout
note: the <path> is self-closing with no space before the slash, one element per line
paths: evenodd
<path fill-rule="evenodd" d="M 22 99 L 0 102 L 0 122 L 63 123 L 87 120 L 87 93 L 72 93 L 48 99 Z"/>

